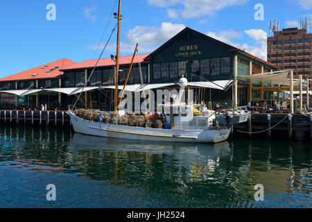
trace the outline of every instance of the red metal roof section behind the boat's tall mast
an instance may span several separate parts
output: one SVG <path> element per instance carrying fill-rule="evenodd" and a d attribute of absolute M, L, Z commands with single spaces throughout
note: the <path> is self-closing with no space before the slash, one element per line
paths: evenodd
<path fill-rule="evenodd" d="M 149 54 L 141 54 L 135 56 L 135 60 L 133 60 L 134 63 L 138 63 L 138 60 L 140 62 L 146 62 L 144 58 L 148 56 Z M 121 56 L 120 57 L 120 65 L 128 65 L 131 63 L 132 56 Z M 87 69 L 87 68 L 93 68 L 96 65 L 97 60 L 85 60 L 83 62 L 79 62 L 75 65 L 71 65 L 69 67 L 66 67 L 64 69 L 60 69 L 61 71 L 71 70 L 71 69 Z M 107 67 L 107 66 L 113 66 L 116 65 L 116 62 L 114 62 L 111 58 L 101 58 L 98 61 L 98 65 L 96 67 Z"/>

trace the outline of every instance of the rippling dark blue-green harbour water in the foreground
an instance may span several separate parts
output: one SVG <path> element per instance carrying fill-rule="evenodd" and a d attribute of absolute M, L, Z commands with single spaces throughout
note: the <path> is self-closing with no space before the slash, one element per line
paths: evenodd
<path fill-rule="evenodd" d="M 15 126 L 0 126 L 0 141 L 0 207 L 312 207 L 311 142 L 157 144 Z"/>

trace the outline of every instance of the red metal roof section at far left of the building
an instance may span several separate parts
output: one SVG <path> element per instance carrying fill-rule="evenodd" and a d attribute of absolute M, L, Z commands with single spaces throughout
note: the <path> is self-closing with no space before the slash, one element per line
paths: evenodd
<path fill-rule="evenodd" d="M 77 62 L 73 62 L 71 60 L 68 60 L 67 58 L 63 58 L 55 62 L 50 62 L 45 65 L 41 65 L 40 67 L 35 67 L 33 69 L 22 71 L 18 74 L 14 74 L 12 76 L 1 78 L 0 81 L 15 81 L 15 80 L 28 80 L 28 79 L 31 80 L 31 79 L 38 79 L 38 78 L 56 78 L 63 74 L 63 72 L 60 71 L 60 69 L 71 66 L 76 63 Z M 58 67 L 58 68 L 54 69 L 55 67 Z M 54 69 L 54 70 L 51 70 L 51 69 Z M 49 73 L 46 73 L 46 72 L 49 72 Z"/>

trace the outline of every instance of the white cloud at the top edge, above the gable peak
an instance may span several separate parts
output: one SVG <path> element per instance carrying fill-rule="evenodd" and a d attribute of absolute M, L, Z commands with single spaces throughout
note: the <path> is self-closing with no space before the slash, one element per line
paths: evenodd
<path fill-rule="evenodd" d="M 148 3 L 156 7 L 167 8 L 167 15 L 171 18 L 182 16 L 184 19 L 214 16 L 216 11 L 229 6 L 241 6 L 247 0 L 148 0 Z M 175 8 L 170 6 L 178 5 Z"/>

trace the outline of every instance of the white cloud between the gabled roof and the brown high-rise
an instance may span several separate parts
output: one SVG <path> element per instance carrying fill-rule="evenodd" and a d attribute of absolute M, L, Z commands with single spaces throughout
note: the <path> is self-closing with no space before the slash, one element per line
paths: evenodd
<path fill-rule="evenodd" d="M 262 29 L 249 29 L 245 30 L 244 33 L 248 35 L 248 37 L 250 37 L 252 40 L 254 40 L 253 45 L 249 45 L 246 43 L 243 44 L 234 43 L 232 39 L 241 37 L 241 34 L 235 31 L 222 31 L 218 34 L 209 32 L 207 33 L 207 35 L 209 35 L 210 37 L 214 37 L 215 39 L 225 42 L 229 45 L 232 45 L 236 48 L 243 49 L 254 56 L 266 60 L 266 50 L 267 50 L 266 40 L 268 34 Z"/>

